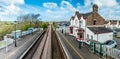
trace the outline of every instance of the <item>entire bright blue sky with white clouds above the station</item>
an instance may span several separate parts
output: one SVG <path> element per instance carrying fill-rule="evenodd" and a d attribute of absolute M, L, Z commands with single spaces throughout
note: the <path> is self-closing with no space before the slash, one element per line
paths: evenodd
<path fill-rule="evenodd" d="M 75 11 L 91 12 L 93 4 L 104 19 L 120 20 L 120 0 L 0 0 L 0 20 L 14 21 L 34 13 L 42 21 L 68 21 Z"/>

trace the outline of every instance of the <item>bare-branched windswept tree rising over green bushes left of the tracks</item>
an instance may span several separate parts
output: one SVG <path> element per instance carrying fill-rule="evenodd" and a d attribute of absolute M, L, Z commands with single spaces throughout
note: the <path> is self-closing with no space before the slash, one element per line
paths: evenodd
<path fill-rule="evenodd" d="M 26 30 L 30 27 L 39 27 L 39 23 L 40 23 L 40 14 L 25 14 L 25 15 L 20 15 L 17 17 L 17 20 L 19 23 L 19 27 L 21 27 L 20 29 L 22 30 Z"/>

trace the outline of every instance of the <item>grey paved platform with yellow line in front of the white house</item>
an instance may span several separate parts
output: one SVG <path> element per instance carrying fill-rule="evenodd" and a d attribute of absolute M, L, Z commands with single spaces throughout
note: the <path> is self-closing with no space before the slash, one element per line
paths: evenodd
<path fill-rule="evenodd" d="M 87 45 L 83 45 L 81 49 L 78 48 L 78 41 L 75 40 L 74 36 L 63 35 L 59 33 L 64 45 L 68 49 L 72 59 L 100 59 L 97 55 L 90 53 L 89 47 Z"/>

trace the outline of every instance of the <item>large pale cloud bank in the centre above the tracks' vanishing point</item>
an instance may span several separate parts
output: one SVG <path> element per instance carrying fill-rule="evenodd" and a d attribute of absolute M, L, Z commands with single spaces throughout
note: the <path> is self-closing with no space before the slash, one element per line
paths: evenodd
<path fill-rule="evenodd" d="M 60 20 L 69 20 L 70 15 L 74 14 L 76 8 L 73 7 L 68 1 L 62 1 L 60 6 L 57 3 L 43 3 L 43 6 L 47 8 L 45 11 L 42 11 L 41 17 L 46 21 L 60 21 Z"/>

